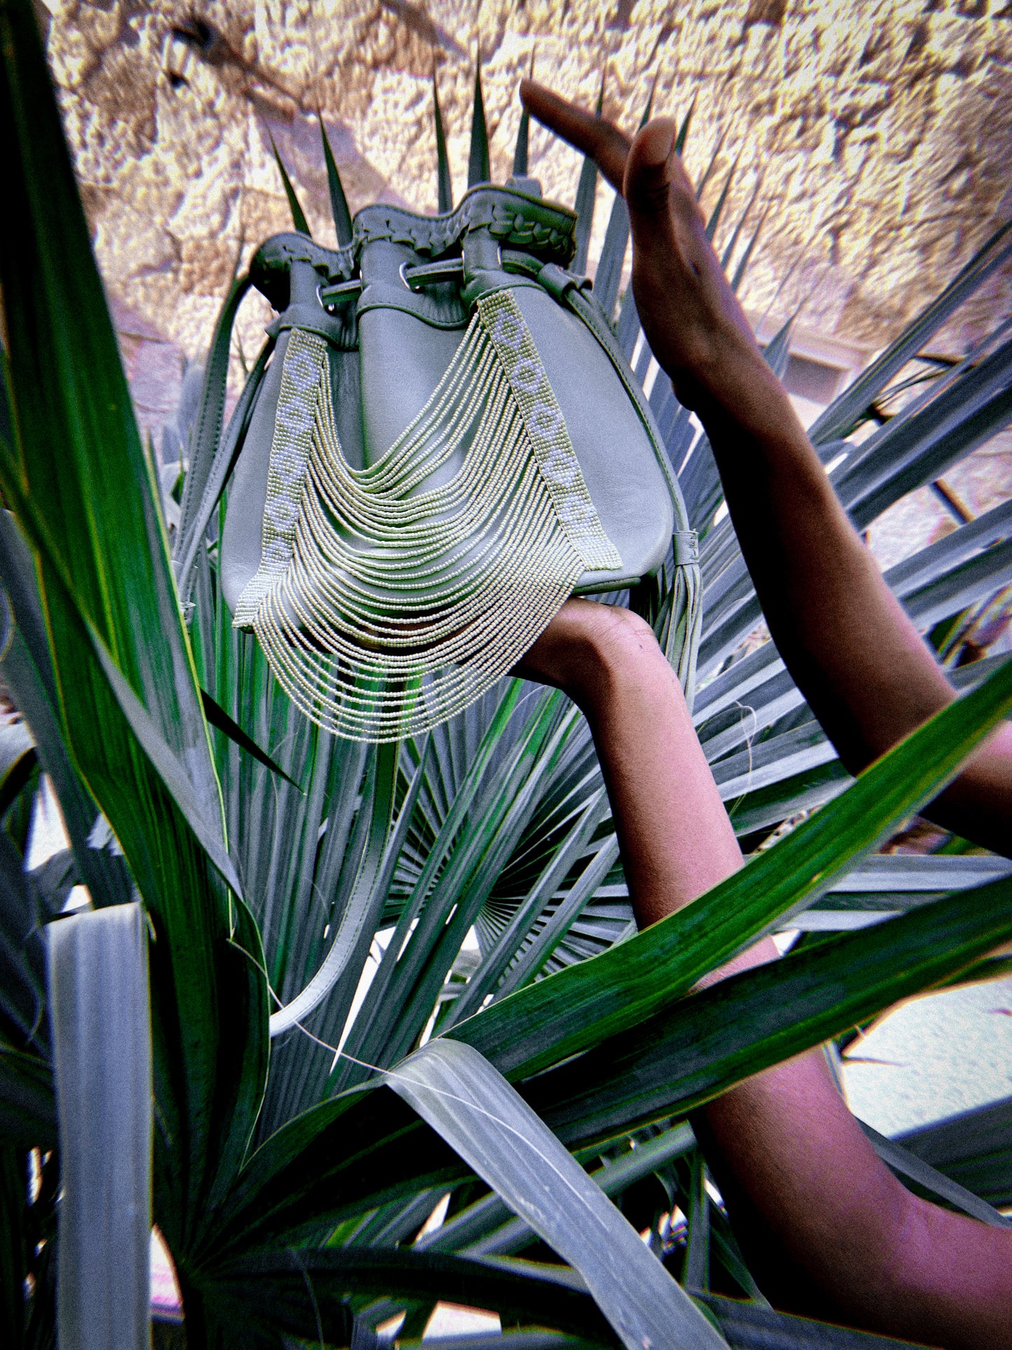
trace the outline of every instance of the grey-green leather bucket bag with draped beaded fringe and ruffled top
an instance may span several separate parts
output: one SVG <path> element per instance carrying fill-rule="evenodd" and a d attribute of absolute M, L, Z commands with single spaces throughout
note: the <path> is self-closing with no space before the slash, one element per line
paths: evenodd
<path fill-rule="evenodd" d="M 337 250 L 275 235 L 252 261 L 278 317 L 212 471 L 188 483 L 202 509 L 181 591 L 233 464 L 219 578 L 235 626 L 337 736 L 426 730 L 569 595 L 627 587 L 691 694 L 696 540 L 591 282 L 567 271 L 575 225 L 483 185 L 434 217 L 366 207 Z"/>

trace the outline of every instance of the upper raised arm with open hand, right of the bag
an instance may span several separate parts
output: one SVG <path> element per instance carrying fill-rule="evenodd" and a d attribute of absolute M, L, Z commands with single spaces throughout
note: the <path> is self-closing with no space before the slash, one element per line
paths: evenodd
<path fill-rule="evenodd" d="M 533 116 L 623 192 L 644 332 L 706 427 L 773 640 L 841 760 L 858 772 L 955 697 L 839 505 L 706 238 L 675 124 L 634 140 L 525 81 Z M 1012 856 L 1012 726 L 926 811 Z"/>

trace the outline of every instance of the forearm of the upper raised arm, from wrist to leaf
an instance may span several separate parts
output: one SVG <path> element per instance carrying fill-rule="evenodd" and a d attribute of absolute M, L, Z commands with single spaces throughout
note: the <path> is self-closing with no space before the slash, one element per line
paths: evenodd
<path fill-rule="evenodd" d="M 777 649 L 851 772 L 955 697 L 854 532 L 772 373 L 739 362 L 726 400 L 702 402 L 727 506 Z M 1012 729 L 1003 728 L 928 810 L 1008 852 Z"/>

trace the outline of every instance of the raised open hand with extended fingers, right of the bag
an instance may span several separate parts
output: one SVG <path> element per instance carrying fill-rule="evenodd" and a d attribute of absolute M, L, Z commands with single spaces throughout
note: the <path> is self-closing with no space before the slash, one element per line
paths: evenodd
<path fill-rule="evenodd" d="M 700 416 L 725 412 L 748 418 L 770 394 L 784 397 L 706 236 L 692 184 L 675 151 L 675 123 L 654 117 L 630 140 L 532 80 L 524 80 L 519 92 L 532 116 L 591 155 L 625 196 L 640 321 L 679 401 Z"/>

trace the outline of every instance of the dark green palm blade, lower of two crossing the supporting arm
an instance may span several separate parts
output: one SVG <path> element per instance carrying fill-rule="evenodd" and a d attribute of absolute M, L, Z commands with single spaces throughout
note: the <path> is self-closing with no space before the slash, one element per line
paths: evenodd
<path fill-rule="evenodd" d="M 994 882 L 745 971 L 536 1079 L 532 1104 L 571 1148 L 690 1111 L 1008 941 L 1011 895 Z"/>

